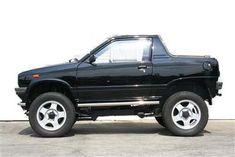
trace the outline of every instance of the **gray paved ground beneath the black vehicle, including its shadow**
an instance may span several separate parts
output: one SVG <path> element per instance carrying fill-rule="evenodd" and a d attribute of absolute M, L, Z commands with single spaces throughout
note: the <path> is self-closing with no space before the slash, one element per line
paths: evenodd
<path fill-rule="evenodd" d="M 154 120 L 77 122 L 41 138 L 28 122 L 0 122 L 0 156 L 235 156 L 235 120 L 210 120 L 197 137 L 175 137 Z"/>

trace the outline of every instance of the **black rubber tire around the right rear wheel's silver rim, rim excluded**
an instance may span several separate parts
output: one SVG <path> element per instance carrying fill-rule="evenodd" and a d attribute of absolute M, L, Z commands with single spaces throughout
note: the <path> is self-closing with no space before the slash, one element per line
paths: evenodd
<path fill-rule="evenodd" d="M 198 120 L 198 123 L 196 123 L 197 125 L 195 125 L 193 128 L 182 129 L 178 127 L 173 121 L 172 110 L 174 106 L 182 100 L 193 101 L 197 104 L 198 108 L 200 109 L 201 118 L 200 120 Z M 195 136 L 203 131 L 203 129 L 205 128 L 208 122 L 208 108 L 206 106 L 206 103 L 203 101 L 203 99 L 199 95 L 192 93 L 192 92 L 183 91 L 183 92 L 175 93 L 172 96 L 170 96 L 163 106 L 162 113 L 163 113 L 164 123 L 166 127 L 174 135 L 177 135 L 177 136 Z"/>

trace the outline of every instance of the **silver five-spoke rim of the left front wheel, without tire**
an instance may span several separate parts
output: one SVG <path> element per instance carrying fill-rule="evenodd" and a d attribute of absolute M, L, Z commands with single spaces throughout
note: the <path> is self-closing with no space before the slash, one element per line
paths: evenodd
<path fill-rule="evenodd" d="M 37 121 L 46 130 L 55 131 L 60 129 L 67 118 L 66 110 L 57 101 L 46 101 L 37 110 Z"/>

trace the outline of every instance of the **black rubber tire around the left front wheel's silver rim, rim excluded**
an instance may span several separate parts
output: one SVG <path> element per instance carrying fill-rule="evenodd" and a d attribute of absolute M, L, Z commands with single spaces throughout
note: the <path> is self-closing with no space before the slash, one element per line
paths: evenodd
<path fill-rule="evenodd" d="M 57 130 L 46 130 L 41 127 L 37 120 L 37 111 L 39 107 L 47 101 L 59 102 L 65 109 L 66 119 L 63 125 Z M 44 137 L 60 137 L 66 135 L 72 128 L 75 122 L 75 108 L 71 100 L 61 93 L 48 92 L 38 96 L 29 108 L 29 122 L 32 129 L 40 136 Z"/>

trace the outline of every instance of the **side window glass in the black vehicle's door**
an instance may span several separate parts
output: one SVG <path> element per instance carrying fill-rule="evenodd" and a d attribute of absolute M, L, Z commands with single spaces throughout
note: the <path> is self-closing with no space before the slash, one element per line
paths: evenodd
<path fill-rule="evenodd" d="M 115 41 L 100 50 L 95 63 L 143 62 L 150 58 L 150 39 Z"/>

